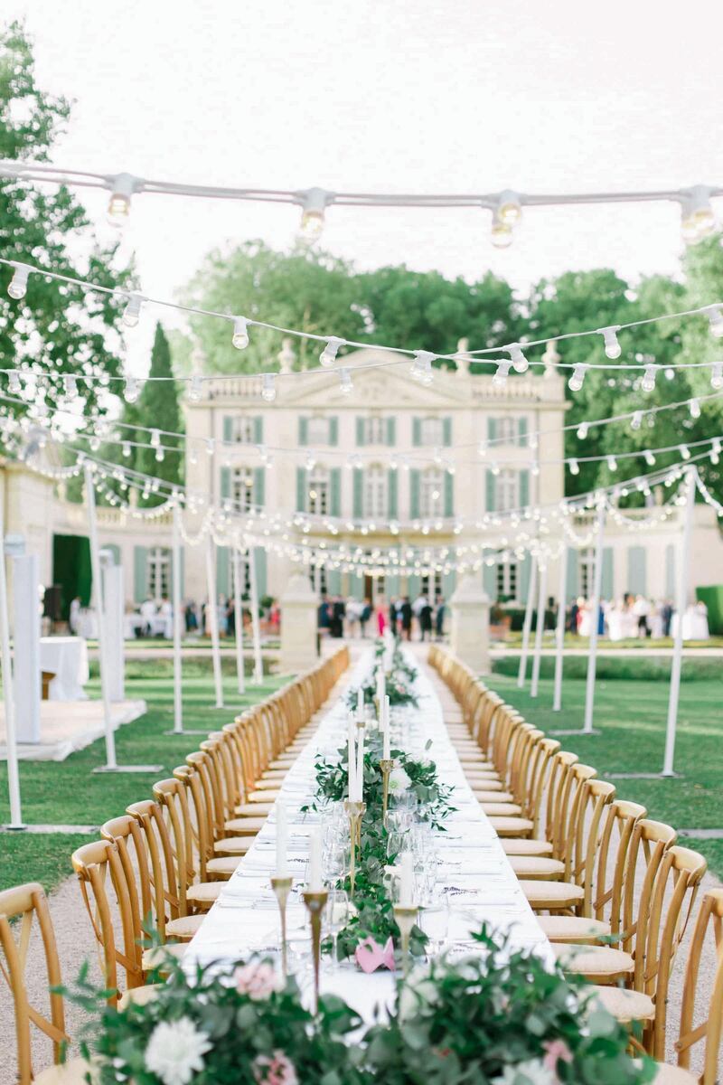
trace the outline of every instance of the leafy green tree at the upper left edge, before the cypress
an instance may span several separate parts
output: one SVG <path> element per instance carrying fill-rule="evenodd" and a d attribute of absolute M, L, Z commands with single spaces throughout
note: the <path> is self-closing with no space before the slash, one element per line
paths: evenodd
<path fill-rule="evenodd" d="M 69 116 L 65 99 L 36 84 L 31 42 L 23 26 L 0 31 L 0 157 L 47 161 Z M 15 180 L 0 180 L 0 252 L 49 271 L 104 286 L 127 285 L 128 270 L 112 270 L 117 244 L 101 246 L 81 205 L 64 187 L 43 192 Z M 39 380 L 36 405 L 64 400 L 63 375 L 99 376 L 120 369 L 118 334 L 122 302 L 83 293 L 31 275 L 21 301 L 8 296 L 12 269 L 0 266 L 0 369 L 20 369 Z M 79 382 L 86 413 L 103 413 L 98 385 Z M 0 392 L 8 391 L 7 381 Z M 107 400 L 107 396 L 105 397 Z M 76 404 L 77 407 L 77 404 Z M 2 411 L 22 416 L 31 404 L 3 403 Z"/>

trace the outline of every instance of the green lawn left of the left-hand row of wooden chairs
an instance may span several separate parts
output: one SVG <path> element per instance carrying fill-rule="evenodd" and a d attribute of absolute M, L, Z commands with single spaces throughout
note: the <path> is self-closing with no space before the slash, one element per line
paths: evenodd
<path fill-rule="evenodd" d="M 224 667 L 224 672 L 227 668 Z M 98 741 L 63 762 L 21 762 L 23 818 L 28 824 L 96 826 L 122 814 L 130 803 L 150 796 L 152 784 L 170 775 L 203 741 L 203 736 L 170 736 L 173 691 L 170 667 L 164 661 L 133 663 L 127 668 L 126 695 L 143 698 L 146 715 L 116 731 L 118 764 L 163 765 L 159 773 L 93 775 L 105 762 L 104 742 Z M 267 697 L 285 679 L 267 676 L 263 686 L 249 686 L 245 697 L 235 692 L 235 679 L 224 675 L 227 709 L 215 702 L 210 663 L 184 667 L 184 727 L 219 730 L 243 707 Z M 99 697 L 98 682 L 88 686 Z M 9 817 L 7 767 L 0 764 L 0 822 Z M 0 833 L 0 889 L 26 881 L 52 888 L 70 873 L 69 855 L 92 837 L 63 833 Z"/>

